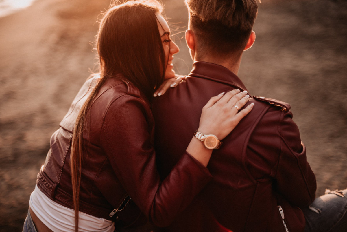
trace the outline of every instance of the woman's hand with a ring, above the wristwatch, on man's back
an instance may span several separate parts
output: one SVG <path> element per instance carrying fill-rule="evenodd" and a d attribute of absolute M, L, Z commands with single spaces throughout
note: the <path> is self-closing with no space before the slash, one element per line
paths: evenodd
<path fill-rule="evenodd" d="M 232 90 L 212 97 L 202 109 L 198 131 L 224 139 L 253 108 L 253 103 L 241 109 L 249 100 L 247 91 Z M 235 107 L 236 106 L 236 107 Z"/>

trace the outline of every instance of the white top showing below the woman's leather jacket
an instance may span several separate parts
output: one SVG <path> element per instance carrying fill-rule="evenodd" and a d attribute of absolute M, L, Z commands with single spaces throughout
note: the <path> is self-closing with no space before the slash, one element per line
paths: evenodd
<path fill-rule="evenodd" d="M 75 231 L 75 211 L 51 200 L 37 185 L 30 195 L 29 205 L 41 222 L 52 231 Z M 114 230 L 114 222 L 79 212 L 79 232 L 113 232 Z"/>

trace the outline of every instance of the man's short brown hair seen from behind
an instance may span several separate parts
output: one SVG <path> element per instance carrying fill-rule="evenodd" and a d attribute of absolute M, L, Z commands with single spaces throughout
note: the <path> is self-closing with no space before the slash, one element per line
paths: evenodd
<path fill-rule="evenodd" d="M 241 55 L 257 16 L 257 0 L 185 0 L 190 26 L 204 52 Z"/>

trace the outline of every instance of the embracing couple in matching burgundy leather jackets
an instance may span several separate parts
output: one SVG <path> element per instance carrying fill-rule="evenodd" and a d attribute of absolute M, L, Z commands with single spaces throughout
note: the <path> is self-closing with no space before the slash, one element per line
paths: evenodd
<path fill-rule="evenodd" d="M 185 77 L 158 1 L 105 13 L 100 74 L 51 137 L 23 231 L 345 231 L 346 197 L 315 200 L 288 103 L 237 77 L 257 1 L 185 2 Z"/>

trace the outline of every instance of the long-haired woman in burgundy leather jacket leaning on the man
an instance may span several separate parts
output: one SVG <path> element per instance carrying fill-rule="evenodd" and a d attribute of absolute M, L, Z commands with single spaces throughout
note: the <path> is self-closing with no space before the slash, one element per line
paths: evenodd
<path fill-rule="evenodd" d="M 129 1 L 105 14 L 100 76 L 85 82 L 52 135 L 23 231 L 113 231 L 147 219 L 166 226 L 211 179 L 212 150 L 193 136 L 165 180 L 156 170 L 150 102 L 154 91 L 176 83 L 158 87 L 175 75 L 178 52 L 161 11 L 155 0 Z M 198 130 L 225 138 L 252 109 L 232 106 L 247 101 L 237 90 L 213 97 Z"/>

